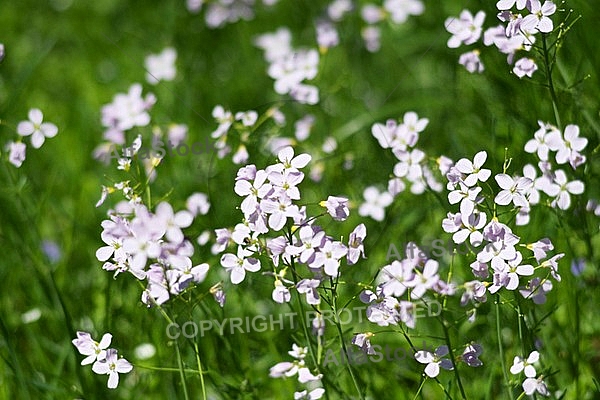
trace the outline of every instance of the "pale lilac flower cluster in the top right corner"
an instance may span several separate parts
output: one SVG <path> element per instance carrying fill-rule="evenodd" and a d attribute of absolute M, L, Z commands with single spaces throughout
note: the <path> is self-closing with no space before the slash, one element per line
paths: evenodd
<path fill-rule="evenodd" d="M 512 11 L 515 5 L 517 12 Z M 485 32 L 483 32 L 485 20 L 483 11 L 473 16 L 469 10 L 463 10 L 459 17 L 446 19 L 444 25 L 452 34 L 448 40 L 448 47 L 457 48 L 461 45 L 475 44 L 483 33 L 483 44 L 494 45 L 501 53 L 506 54 L 508 64 L 514 64 L 513 73 L 516 76 L 531 78 L 538 69 L 535 60 L 522 57 L 515 62 L 516 55 L 519 51 L 530 51 L 537 34 L 552 32 L 554 24 L 550 16 L 556 12 L 556 5 L 552 1 L 545 1 L 542 4 L 540 0 L 501 0 L 496 7 L 499 10 L 498 19 L 504 24 L 488 28 Z M 529 14 L 523 16 L 522 10 L 527 10 Z M 459 63 L 471 73 L 481 73 L 485 68 L 479 55 L 479 49 L 471 50 L 460 56 Z"/>

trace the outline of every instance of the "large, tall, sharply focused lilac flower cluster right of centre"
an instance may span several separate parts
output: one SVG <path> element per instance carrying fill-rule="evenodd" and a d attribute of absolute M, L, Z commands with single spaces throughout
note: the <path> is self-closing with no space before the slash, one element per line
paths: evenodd
<path fill-rule="evenodd" d="M 545 293 L 552 288 L 547 280 L 548 272 L 554 279 L 560 281 L 558 260 L 564 254 L 557 254 L 549 259 L 548 252 L 554 249 L 549 239 L 542 239 L 525 247 L 533 252 L 536 266 L 524 262 L 525 257 L 518 249 L 521 238 L 513 233 L 506 224 L 493 216 L 488 219 L 485 212 L 485 196 L 478 182 L 486 182 L 491 171 L 483 168 L 487 153 L 477 153 L 473 161 L 463 158 L 452 165 L 446 174 L 450 204 L 460 205 L 460 212 L 448 213 L 442 221 L 445 232 L 452 233 L 453 241 L 457 244 L 467 239 L 471 243 L 475 261 L 471 263 L 473 274 L 478 280 L 464 283 L 465 292 L 461 299 L 464 306 L 469 301 L 478 303 L 485 301 L 486 290 L 496 293 L 501 288 L 516 290 L 526 298 L 543 302 Z M 531 191 L 534 182 L 527 177 L 511 177 L 506 173 L 495 175 L 500 191 L 494 197 L 494 203 L 500 206 L 512 205 L 517 210 L 529 209 Z M 488 222 L 489 221 L 489 222 Z M 523 245 L 520 245 L 523 246 Z M 529 259 L 529 258 L 527 258 Z M 492 282 L 482 282 L 490 276 Z M 535 271 L 543 273 L 541 278 L 531 278 L 527 284 L 521 285 L 521 277 L 531 277 Z M 474 309 L 471 320 L 475 318 Z"/>

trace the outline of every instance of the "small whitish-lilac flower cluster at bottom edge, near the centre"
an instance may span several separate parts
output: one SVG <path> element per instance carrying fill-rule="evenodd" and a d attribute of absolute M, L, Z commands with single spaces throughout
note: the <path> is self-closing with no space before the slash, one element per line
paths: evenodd
<path fill-rule="evenodd" d="M 325 393 L 323 388 L 314 388 L 313 382 L 318 382 L 323 377 L 322 374 L 313 375 L 310 369 L 306 366 L 305 358 L 308 353 L 306 347 L 300 347 L 296 343 L 292 345 L 292 350 L 288 351 L 288 354 L 295 358 L 293 362 L 284 361 L 280 362 L 273 367 L 269 372 L 271 378 L 290 378 L 298 375 L 298 382 L 302 384 L 311 383 L 313 389 L 303 390 L 301 392 L 294 393 L 294 399 L 320 399 Z"/>

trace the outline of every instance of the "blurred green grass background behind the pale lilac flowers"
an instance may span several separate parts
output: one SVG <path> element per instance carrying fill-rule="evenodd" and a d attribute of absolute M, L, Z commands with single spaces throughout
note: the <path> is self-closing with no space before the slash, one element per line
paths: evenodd
<path fill-rule="evenodd" d="M 220 29 L 207 28 L 204 11 L 191 14 L 183 0 L 19 0 L 3 4 L 0 42 L 5 45 L 6 57 L 0 63 L 0 145 L 16 138 L 17 123 L 26 119 L 28 110 L 34 107 L 42 109 L 44 119 L 59 127 L 59 134 L 39 150 L 28 147 L 27 159 L 19 169 L 8 164 L 3 154 L 0 398 L 182 398 L 177 373 L 142 368 L 122 376 L 119 389 L 109 391 L 105 377 L 78 365 L 81 357 L 70 343 L 76 330 L 90 331 L 97 339 L 110 331 L 113 347 L 134 364 L 138 361 L 135 347 L 149 342 L 156 346 L 157 354 L 140 364 L 176 366 L 175 346 L 165 335 L 166 323 L 156 310 L 141 304 L 140 286 L 131 276 L 113 279 L 94 256 L 102 245 L 100 222 L 111 200 L 100 208 L 94 204 L 101 185 L 110 183 L 116 171 L 93 160 L 91 153 L 102 141 L 100 109 L 115 94 L 126 92 L 134 82 L 143 83 L 144 93 L 152 92 L 158 99 L 151 112 L 153 123 L 163 127 L 170 122 L 187 124 L 190 142 L 216 128 L 211 110 L 217 104 L 234 112 L 264 112 L 273 102 L 283 100 L 281 110 L 287 124 L 277 134 L 286 137 L 293 135 L 295 120 L 306 113 L 314 114 L 312 135 L 299 146 L 313 155 L 313 162 L 320 160 L 325 167 L 319 184 L 307 178 L 301 186 L 311 201 L 329 194 L 345 195 L 357 205 L 366 186 L 384 188 L 395 159 L 378 146 L 371 125 L 400 118 L 411 110 L 430 120 L 417 145 L 428 156 L 444 154 L 457 160 L 471 158 L 483 149 L 489 154 L 486 165 L 498 173 L 506 148 L 513 158 L 511 172 L 519 173 L 522 165 L 535 162 L 522 148 L 537 129 L 537 120 L 554 122 L 547 89 L 511 75 L 504 56 L 495 49 L 482 48 L 486 71 L 471 75 L 457 64 L 461 49 L 446 47 L 449 34 L 443 23 L 448 16 L 458 15 L 464 8 L 473 12 L 483 9 L 488 15 L 485 26 L 490 27 L 495 25 L 493 3 L 425 1 L 424 15 L 411 17 L 401 26 L 382 25 L 382 49 L 375 54 L 364 49 L 360 39 L 363 22 L 358 13 L 351 13 L 338 25 L 341 45 L 321 56 L 314 81 L 321 102 L 316 106 L 285 101 L 274 92 L 273 81 L 266 75 L 267 63 L 252 39 L 287 26 L 295 47 L 316 47 L 315 23 L 323 16 L 327 1 L 281 0 L 273 7 L 260 5 L 253 20 Z M 568 386 L 566 398 L 576 398 L 576 376 L 581 380 L 580 393 L 592 393 L 592 377 L 600 376 L 600 323 L 595 318 L 599 256 L 597 251 L 590 253 L 590 246 L 594 249 L 598 245 L 598 219 L 583 212 L 588 196 L 600 198 L 598 153 L 592 153 L 600 139 L 600 31 L 596 23 L 600 10 L 583 0 L 568 1 L 560 8 L 581 15 L 563 42 L 554 78 L 563 123 L 578 124 L 582 135 L 589 139 L 589 165 L 578 172 L 586 181 L 586 194 L 567 212 L 540 209 L 535 223 L 520 228 L 519 234 L 528 241 L 550 237 L 557 249 L 567 253 L 561 264 L 563 282 L 555 285 L 538 317 L 553 308 L 556 312 L 543 323 L 535 323 L 539 331 L 532 336 L 547 337 L 545 362 L 557 371 L 549 379 L 552 388 Z M 559 11 L 554 20 L 562 20 L 565 14 Z M 177 78 L 149 85 L 144 81 L 144 58 L 166 46 L 177 50 Z M 539 71 L 534 77 L 543 82 L 544 73 Z M 260 142 L 260 135 L 271 134 L 273 129 L 258 130 L 249 147 L 250 162 L 259 167 L 274 160 Z M 339 147 L 333 155 L 326 155 L 320 147 L 330 135 L 337 138 Z M 175 208 L 183 208 L 187 196 L 195 191 L 209 194 L 210 213 L 190 230 L 196 235 L 241 220 L 241 213 L 235 209 L 239 198 L 233 193 L 237 167 L 230 158 L 199 157 L 165 159 L 153 186 L 153 197 L 170 193 L 168 199 Z M 354 159 L 350 170 L 342 167 L 346 157 Z M 387 210 L 385 222 L 364 221 L 369 258 L 344 275 L 348 285 L 342 299 L 350 300 L 360 291 L 357 283 L 369 282 L 385 264 L 390 243 L 399 246 L 408 240 L 447 239 L 440 228 L 447 211 L 433 194 L 414 196 L 407 192 Z M 326 229 L 347 237 L 360 222 L 363 219 L 353 209 L 347 223 L 329 224 Z M 590 240 L 587 244 L 586 238 Z M 58 260 L 44 255 L 44 240 L 58 245 Z M 575 257 L 588 258 L 586 272 L 580 278 L 568 271 Z M 214 267 L 199 293 L 206 294 L 209 284 L 221 279 L 218 260 L 208 248 L 197 251 L 195 262 L 206 261 Z M 470 279 L 465 266 L 456 274 Z M 271 301 L 271 290 L 272 279 L 256 274 L 228 291 L 223 310 L 208 298 L 194 308 L 191 316 L 186 314 L 189 304 L 184 301 L 175 301 L 172 312 L 181 321 L 190 317 L 199 321 L 288 312 L 286 306 Z M 351 304 L 360 305 L 357 300 Z M 22 315 L 32 309 L 41 312 L 40 318 L 24 323 Z M 506 317 L 506 344 L 518 351 L 519 344 L 511 339 L 516 329 L 514 315 Z M 493 314 L 488 324 L 484 322 L 461 325 L 461 332 L 472 340 L 495 335 Z M 360 328 L 364 331 L 376 327 L 364 323 L 349 327 L 345 332 L 348 341 Z M 288 360 L 286 352 L 296 335 L 301 340 L 300 332 L 292 331 L 200 338 L 203 363 L 210 370 L 207 385 L 211 396 L 283 398 L 283 393 L 291 394 L 294 382 L 271 379 L 268 369 Z M 379 344 L 406 347 L 397 335 L 380 337 Z M 334 341 L 335 335 L 326 338 Z M 185 344 L 184 340 L 180 342 Z M 502 390 L 501 370 L 493 356 L 496 349 L 489 350 L 492 356 L 482 357 L 489 368 L 466 371 L 470 373 L 466 377 L 472 398 L 496 398 L 495 393 Z M 193 353 L 184 354 L 184 358 L 194 365 Z M 511 360 L 506 361 L 510 365 Z M 372 369 L 357 368 L 362 369 L 361 384 L 372 398 L 412 398 L 416 393 L 421 367 L 415 362 L 368 367 Z M 344 368 L 332 366 L 327 372 L 327 387 L 339 384 L 342 392 L 352 393 Z M 192 397 L 199 398 L 198 379 L 190 378 L 189 384 Z M 427 385 L 423 398 L 439 398 L 435 397 L 440 396 L 436 390 L 434 385 Z M 330 396 L 344 398 L 334 390 Z"/>

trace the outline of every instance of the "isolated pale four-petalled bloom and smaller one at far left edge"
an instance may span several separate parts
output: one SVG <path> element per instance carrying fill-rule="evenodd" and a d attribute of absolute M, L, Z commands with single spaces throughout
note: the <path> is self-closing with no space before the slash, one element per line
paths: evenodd
<path fill-rule="evenodd" d="M 30 136 L 31 145 L 34 149 L 39 149 L 44 144 L 46 138 L 53 138 L 58 133 L 58 128 L 51 122 L 43 122 L 44 114 L 37 108 L 32 108 L 27 114 L 28 120 L 21 121 L 17 125 L 17 134 L 21 137 Z M 6 144 L 8 151 L 8 161 L 19 168 L 23 165 L 26 157 L 27 145 L 21 141 L 10 141 Z"/>

